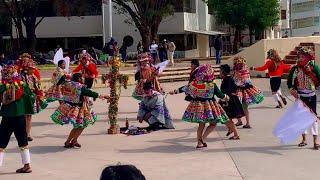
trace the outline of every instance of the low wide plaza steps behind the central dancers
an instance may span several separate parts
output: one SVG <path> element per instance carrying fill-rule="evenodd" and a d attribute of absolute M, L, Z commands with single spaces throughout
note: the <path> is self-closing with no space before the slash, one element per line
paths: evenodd
<path fill-rule="evenodd" d="M 220 66 L 212 66 L 215 71 L 215 76 L 218 77 L 220 74 Z M 188 81 L 190 76 L 191 68 L 181 67 L 181 68 L 167 68 L 159 77 L 159 82 L 176 82 L 176 81 Z"/>

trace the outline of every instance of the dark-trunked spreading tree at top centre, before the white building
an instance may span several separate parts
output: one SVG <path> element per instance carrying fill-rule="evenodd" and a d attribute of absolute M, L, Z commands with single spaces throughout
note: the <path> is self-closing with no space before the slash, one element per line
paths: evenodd
<path fill-rule="evenodd" d="M 161 21 L 173 16 L 175 0 L 112 0 L 119 14 L 128 15 L 125 23 L 134 24 L 143 44 L 148 47 L 152 39 L 158 40 Z"/>

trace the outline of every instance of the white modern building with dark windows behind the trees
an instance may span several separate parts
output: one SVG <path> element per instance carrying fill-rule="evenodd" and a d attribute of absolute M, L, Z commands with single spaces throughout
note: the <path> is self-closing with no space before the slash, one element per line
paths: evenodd
<path fill-rule="evenodd" d="M 46 50 L 55 48 L 59 44 L 69 50 L 81 48 L 83 45 L 101 49 L 103 42 L 108 42 L 110 39 L 109 5 L 102 6 L 101 0 L 94 1 L 97 1 L 95 7 L 88 8 L 81 16 L 70 14 L 69 17 L 59 9 L 50 9 L 48 5 L 46 6 L 46 1 L 43 1 L 42 14 L 39 14 L 39 17 L 45 15 L 46 18 L 36 29 L 39 47 Z M 175 6 L 174 16 L 166 18 L 160 25 L 159 39 L 174 41 L 177 55 L 180 57 L 209 56 L 210 37 L 221 33 L 215 31 L 214 17 L 208 11 L 206 3 L 203 0 L 179 0 Z M 125 23 L 127 18 L 128 15 L 119 15 L 113 10 L 112 37 L 121 46 L 124 36 L 132 36 L 134 45 L 128 50 L 136 51 L 141 36 L 134 25 Z M 16 37 L 14 27 L 12 33 L 13 37 Z"/>

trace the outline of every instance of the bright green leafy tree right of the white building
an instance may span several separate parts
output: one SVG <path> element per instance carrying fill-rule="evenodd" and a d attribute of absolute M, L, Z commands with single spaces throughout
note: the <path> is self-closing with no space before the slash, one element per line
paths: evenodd
<path fill-rule="evenodd" d="M 278 0 L 207 0 L 206 2 L 218 23 L 229 24 L 236 29 L 234 52 L 238 52 L 241 31 L 249 28 L 250 34 L 261 32 L 277 24 L 279 20 Z M 250 41 L 252 42 L 251 36 Z"/>

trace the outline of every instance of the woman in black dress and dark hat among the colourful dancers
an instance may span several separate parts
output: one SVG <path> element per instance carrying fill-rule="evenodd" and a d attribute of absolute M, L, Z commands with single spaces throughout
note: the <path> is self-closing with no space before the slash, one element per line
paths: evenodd
<path fill-rule="evenodd" d="M 220 76 L 222 78 L 221 82 L 221 92 L 229 96 L 229 101 L 220 101 L 220 105 L 223 107 L 224 111 L 227 113 L 229 119 L 233 123 L 232 119 L 238 119 L 245 116 L 243 112 L 243 108 L 241 102 L 236 95 L 237 85 L 230 76 L 231 68 L 228 64 L 224 64 L 220 66 Z M 232 134 L 233 131 L 229 129 L 226 136 Z M 237 133 L 237 132 L 236 132 Z"/>

